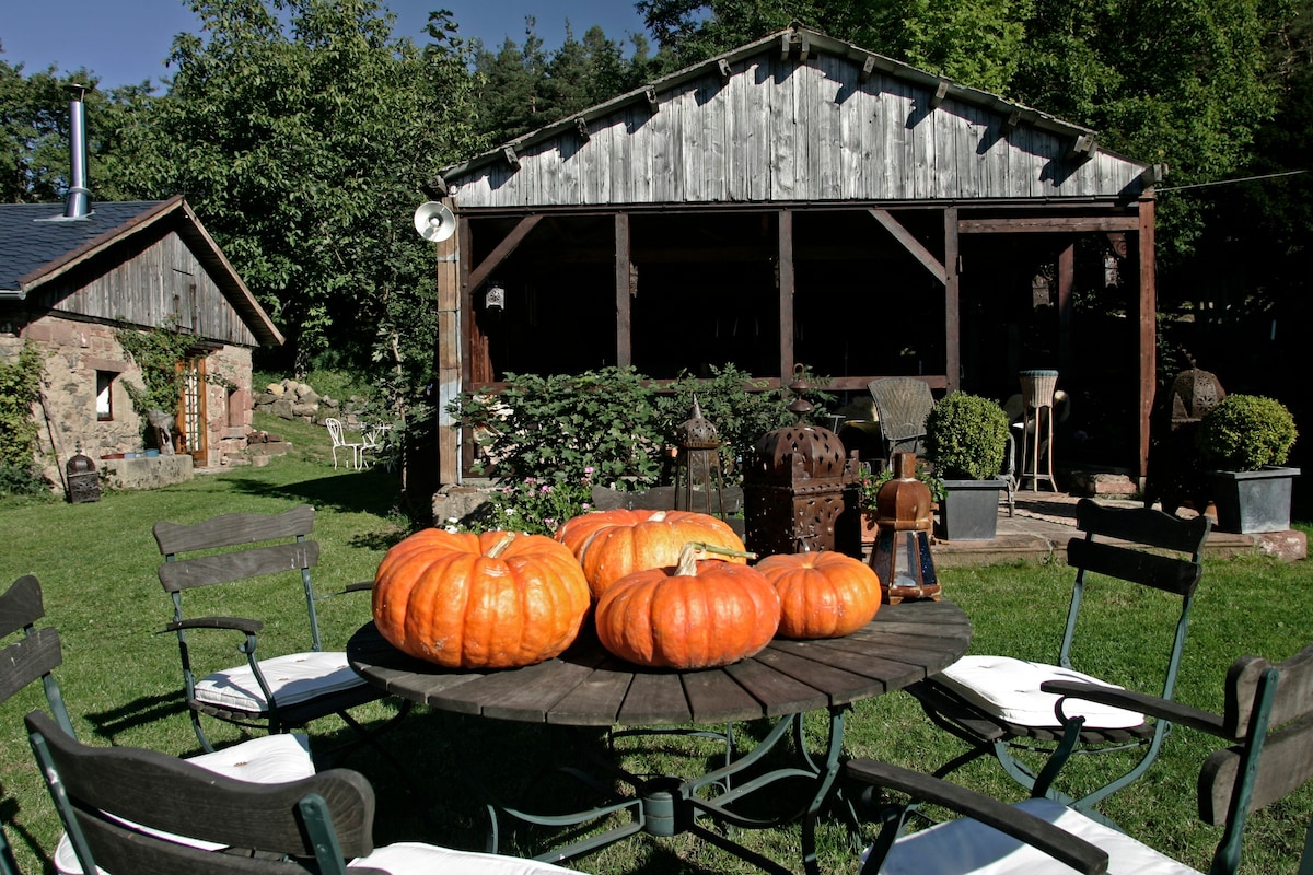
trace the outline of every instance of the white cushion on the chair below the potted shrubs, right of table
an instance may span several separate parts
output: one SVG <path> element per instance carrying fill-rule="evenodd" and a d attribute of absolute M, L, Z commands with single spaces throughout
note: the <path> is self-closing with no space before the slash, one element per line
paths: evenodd
<path fill-rule="evenodd" d="M 1027 727 L 1061 725 L 1053 711 L 1061 697 L 1043 693 L 1044 681 L 1082 681 L 1121 689 L 1081 672 L 1010 656 L 964 656 L 936 674 L 935 681 L 986 714 Z M 1062 708 L 1067 716 L 1083 715 L 1085 725 L 1091 729 L 1129 729 L 1145 720 L 1134 711 L 1081 699 L 1069 699 Z"/>

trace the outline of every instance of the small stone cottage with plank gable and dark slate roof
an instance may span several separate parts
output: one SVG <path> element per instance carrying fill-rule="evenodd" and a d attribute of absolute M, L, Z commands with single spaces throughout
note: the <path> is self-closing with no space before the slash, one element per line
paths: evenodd
<path fill-rule="evenodd" d="M 251 352 L 282 335 L 186 201 L 0 205 L 0 358 L 26 341 L 45 356 L 34 415 L 51 483 L 79 446 L 102 467 L 147 449 L 148 412 L 125 388 L 140 370 L 118 332 L 160 328 L 189 340 L 177 408 L 165 411 L 171 450 L 221 464 L 247 446 Z"/>

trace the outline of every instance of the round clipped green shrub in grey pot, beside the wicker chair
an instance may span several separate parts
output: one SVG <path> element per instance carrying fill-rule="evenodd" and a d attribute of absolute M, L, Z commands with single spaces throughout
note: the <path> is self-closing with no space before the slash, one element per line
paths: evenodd
<path fill-rule="evenodd" d="M 943 478 L 997 478 L 1006 450 L 1007 415 L 987 397 L 953 392 L 926 417 L 926 455 Z"/>

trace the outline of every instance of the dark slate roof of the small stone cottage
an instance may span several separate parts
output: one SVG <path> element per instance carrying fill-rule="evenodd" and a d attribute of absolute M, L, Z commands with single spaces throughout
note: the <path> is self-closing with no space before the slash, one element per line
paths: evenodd
<path fill-rule="evenodd" d="M 261 344 L 282 344 L 269 315 L 183 195 L 93 203 L 88 215 L 74 219 L 64 218 L 59 203 L 0 203 L 0 300 L 24 300 L 45 283 L 160 223 L 168 223 L 186 241 Z"/>

